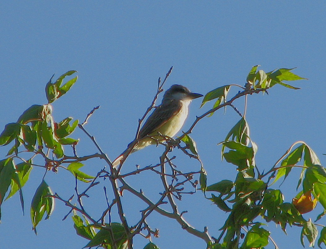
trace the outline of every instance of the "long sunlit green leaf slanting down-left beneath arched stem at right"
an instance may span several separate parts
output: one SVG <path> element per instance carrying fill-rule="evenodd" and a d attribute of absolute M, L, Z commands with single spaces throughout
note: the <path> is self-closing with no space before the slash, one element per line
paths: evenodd
<path fill-rule="evenodd" d="M 281 162 L 281 168 L 277 170 L 275 179 L 272 184 L 274 184 L 282 176 L 284 176 L 284 180 L 287 178 L 290 171 L 292 170 L 292 167 L 287 166 L 296 165 L 301 160 L 304 147 L 304 144 L 300 145 L 295 150 L 293 150 L 285 159 L 283 159 L 283 161 Z"/>

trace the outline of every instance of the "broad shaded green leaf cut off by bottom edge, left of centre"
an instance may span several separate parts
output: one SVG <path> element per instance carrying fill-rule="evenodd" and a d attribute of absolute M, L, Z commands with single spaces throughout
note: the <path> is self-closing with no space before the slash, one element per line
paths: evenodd
<path fill-rule="evenodd" d="M 111 234 L 113 235 L 113 238 Z M 113 242 L 116 243 L 117 247 L 122 246 L 122 248 L 124 248 L 123 245 L 127 242 L 125 228 L 119 223 L 111 223 L 111 226 L 110 224 L 106 224 L 106 227 L 101 228 L 94 238 L 83 248 L 98 246 L 101 244 L 112 245 Z"/>

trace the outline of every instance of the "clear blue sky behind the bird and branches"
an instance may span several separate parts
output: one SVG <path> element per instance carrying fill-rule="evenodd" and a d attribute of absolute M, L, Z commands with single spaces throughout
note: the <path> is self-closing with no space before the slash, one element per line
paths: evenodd
<path fill-rule="evenodd" d="M 53 73 L 56 78 L 77 70 L 77 83 L 53 103 L 53 115 L 59 121 L 68 116 L 83 120 L 93 107 L 101 105 L 86 128 L 114 159 L 134 138 L 138 118 L 156 92 L 157 78 L 164 77 L 170 66 L 174 68 L 165 88 L 182 84 L 201 94 L 226 84 L 244 85 L 249 70 L 257 64 L 266 72 L 297 67 L 293 72 L 309 79 L 291 82 L 301 90 L 275 86 L 269 95 L 249 97 L 247 121 L 259 147 L 257 164 L 269 169 L 292 143 L 302 140 L 325 166 L 325 7 L 323 1 L 4 1 L 0 8 L 0 128 L 15 122 L 30 105 L 46 104 L 44 87 Z M 231 89 L 229 96 L 237 91 Z M 200 100 L 194 100 L 183 130 L 209 105 L 199 109 Z M 243 100 L 236 105 L 243 110 Z M 219 111 L 201 120 L 193 131 L 209 183 L 234 180 L 235 169 L 220 161 L 221 148 L 216 144 L 238 119 L 231 109 L 226 114 Z M 81 155 L 96 152 L 82 132 L 76 132 L 78 137 Z M 0 148 L 1 157 L 6 153 L 7 148 Z M 162 147 L 151 146 L 131 155 L 126 164 L 155 163 L 161 153 Z M 187 163 L 192 170 L 199 169 L 196 162 Z M 95 161 L 84 171 L 96 174 L 103 166 L 104 162 Z M 286 201 L 296 194 L 299 174 L 294 173 L 281 186 Z M 2 244 L 6 248 L 83 247 L 87 241 L 76 235 L 71 218 L 61 221 L 69 210 L 60 202 L 51 218 L 39 224 L 37 236 L 31 230 L 28 207 L 42 175 L 42 170 L 34 168 L 23 189 L 25 216 L 18 196 L 3 203 Z M 159 186 L 159 179 L 150 177 L 138 176 L 130 182 L 135 188 L 148 188 L 149 195 L 156 198 L 161 189 L 150 191 Z M 65 198 L 73 193 L 74 179 L 66 172 L 49 173 L 46 181 Z M 105 201 L 103 189 L 94 190 L 94 196 L 85 203 L 91 214 L 99 215 Z M 144 208 L 132 196 L 128 198 L 138 210 Z M 226 214 L 199 192 L 185 196 L 179 204 L 180 210 L 188 210 L 185 217 L 191 225 L 207 226 L 218 237 Z M 133 207 L 126 209 L 135 221 L 139 213 L 133 213 Z M 314 212 L 319 214 L 321 207 L 317 209 Z M 150 222 L 160 230 L 154 242 L 162 249 L 204 248 L 200 239 L 172 220 L 154 214 Z M 325 224 L 325 218 L 319 223 Z M 280 248 L 289 243 L 300 248 L 300 229 L 289 227 L 286 236 L 274 227 L 268 224 Z M 135 248 L 145 243 L 138 238 Z"/>

